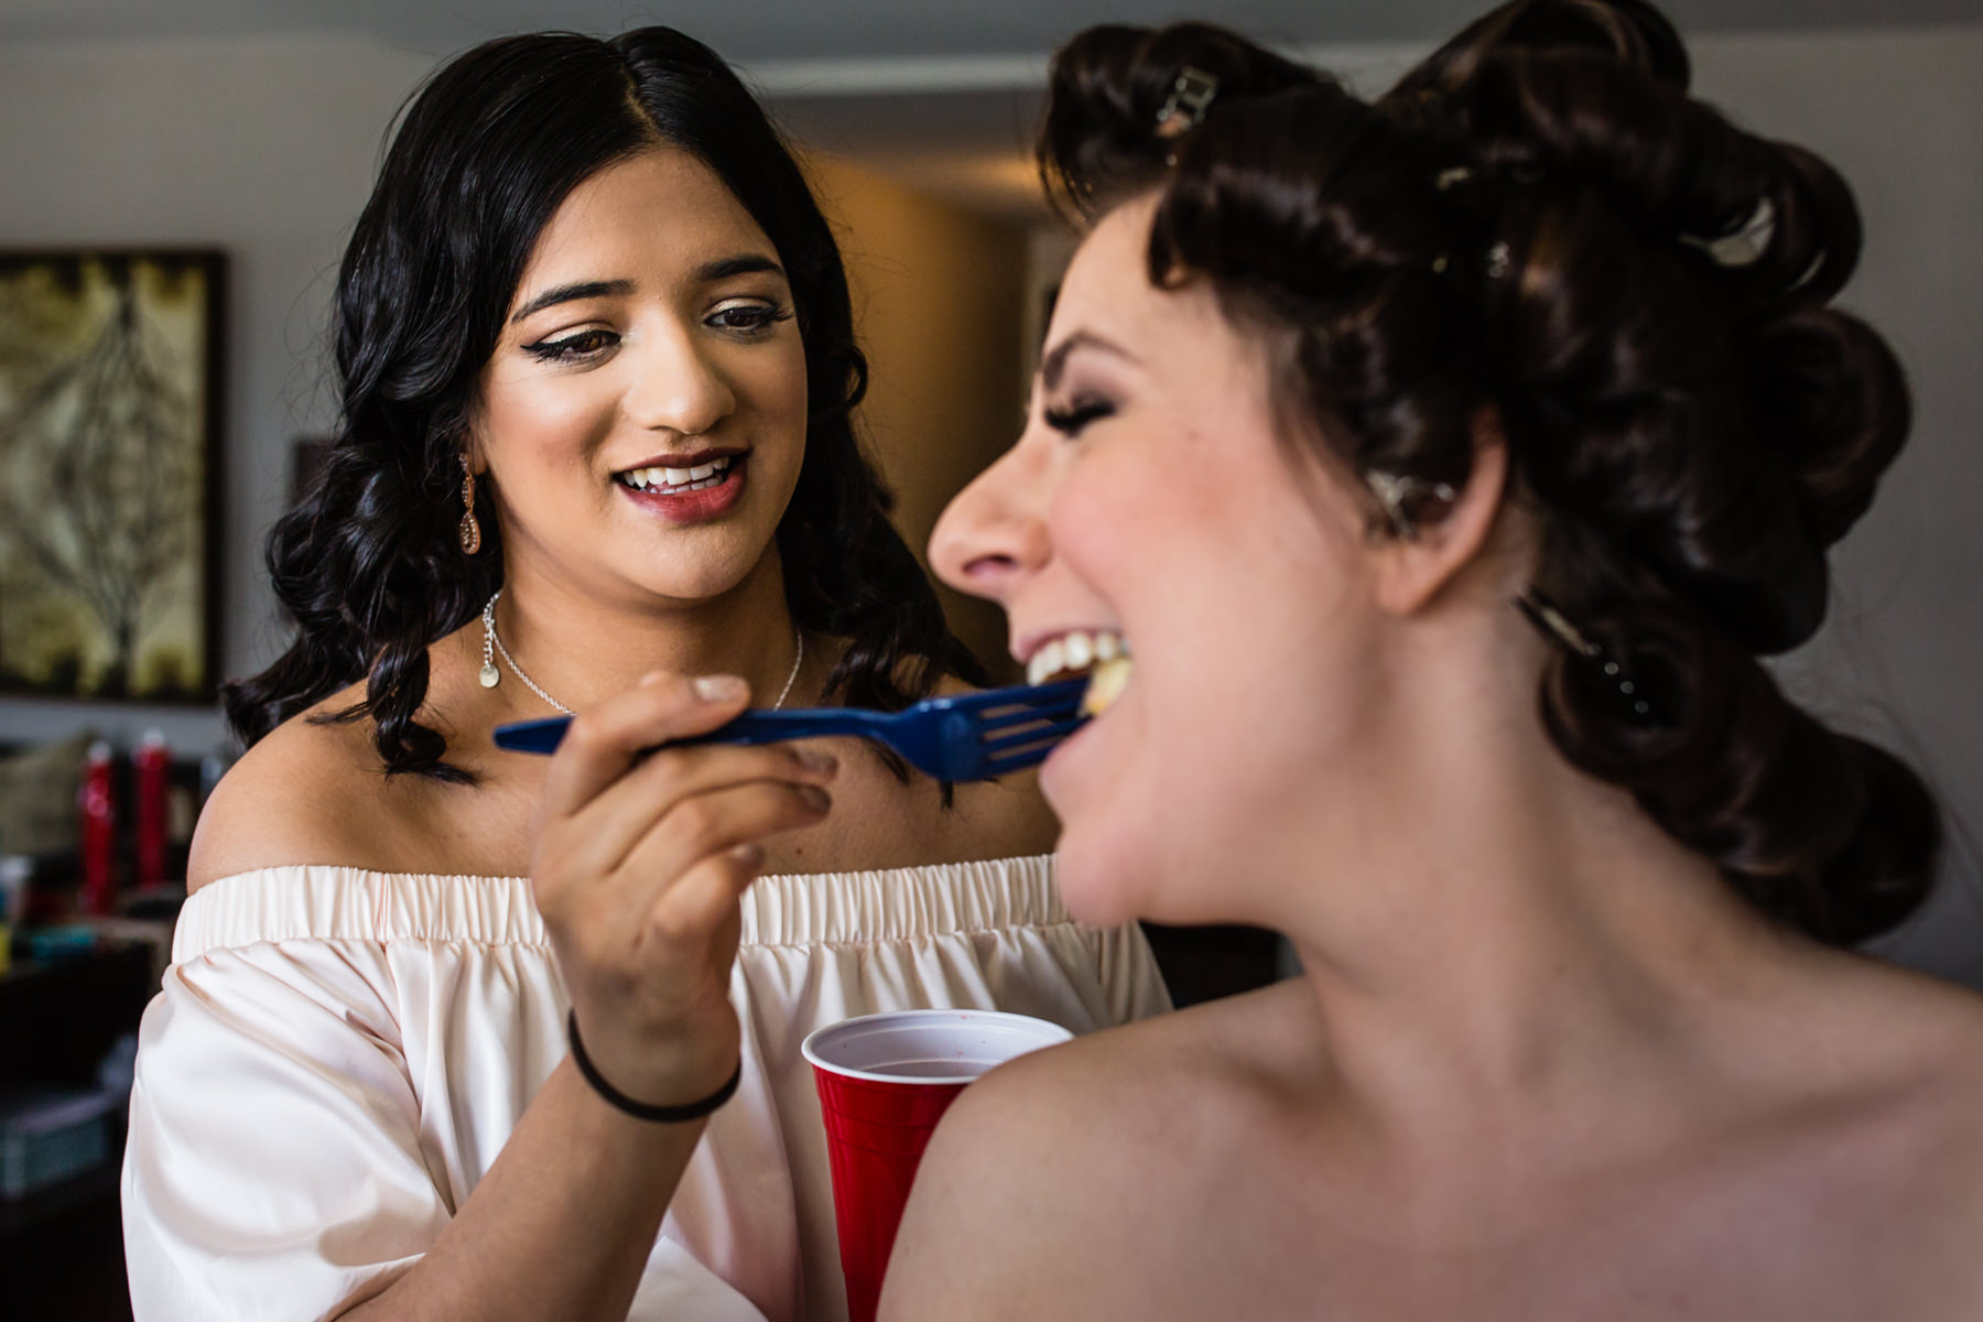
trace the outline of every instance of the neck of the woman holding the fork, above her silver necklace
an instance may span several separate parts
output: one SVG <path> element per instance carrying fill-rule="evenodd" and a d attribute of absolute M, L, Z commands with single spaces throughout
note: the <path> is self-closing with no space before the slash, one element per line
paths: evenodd
<path fill-rule="evenodd" d="M 496 603 L 496 630 L 516 666 L 575 712 L 633 688 L 652 670 L 738 674 L 750 682 L 754 706 L 771 706 L 797 656 L 775 547 L 734 589 L 692 603 L 641 601 L 631 593 L 613 601 L 510 567 Z M 496 664 L 504 678 L 514 678 L 502 656 Z M 791 698 L 809 698 L 801 690 L 803 676 Z"/>

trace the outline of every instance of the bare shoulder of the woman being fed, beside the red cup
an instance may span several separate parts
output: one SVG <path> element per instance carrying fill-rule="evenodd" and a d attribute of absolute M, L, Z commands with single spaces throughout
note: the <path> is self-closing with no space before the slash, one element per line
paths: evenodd
<path fill-rule="evenodd" d="M 1095 1033 L 972 1084 L 918 1167 L 882 1316 L 1112 1316 L 1095 1263 L 1168 1253 L 1190 1219 L 1164 1211 L 1194 1205 L 1257 1132 L 1305 1013 L 1289 991 Z"/>

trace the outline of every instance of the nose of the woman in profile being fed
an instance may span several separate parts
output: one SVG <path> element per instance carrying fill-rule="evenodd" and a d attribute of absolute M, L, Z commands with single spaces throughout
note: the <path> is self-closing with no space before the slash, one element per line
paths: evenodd
<path fill-rule="evenodd" d="M 944 507 L 930 535 L 930 565 L 950 587 L 1005 603 L 1053 553 L 1047 539 L 1047 472 L 1023 440 Z"/>

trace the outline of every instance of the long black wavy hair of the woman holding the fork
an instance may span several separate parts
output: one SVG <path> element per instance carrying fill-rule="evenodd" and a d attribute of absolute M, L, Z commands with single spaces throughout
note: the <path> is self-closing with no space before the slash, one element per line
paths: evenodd
<path fill-rule="evenodd" d="M 428 646 L 502 583 L 500 531 L 464 555 L 462 434 L 482 365 L 537 234 L 599 170 L 668 143 L 694 153 L 763 228 L 805 341 L 809 424 L 777 527 L 785 599 L 803 628 L 849 640 L 827 694 L 902 708 L 944 674 L 986 680 L 928 577 L 888 523 L 890 497 L 853 430 L 867 390 L 833 232 L 777 129 L 736 73 L 670 28 L 611 42 L 502 38 L 456 57 L 408 101 L 337 279 L 343 416 L 319 480 L 268 537 L 288 652 L 228 684 L 228 721 L 254 743 L 365 678 L 389 773 L 468 781 L 414 717 Z"/>

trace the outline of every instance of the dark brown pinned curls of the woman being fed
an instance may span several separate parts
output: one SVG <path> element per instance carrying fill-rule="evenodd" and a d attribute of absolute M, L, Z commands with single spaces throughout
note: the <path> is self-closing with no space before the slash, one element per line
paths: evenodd
<path fill-rule="evenodd" d="M 1164 133 L 1182 69 L 1218 95 Z M 1656 696 L 1636 716 L 1557 648 L 1551 739 L 1765 914 L 1850 945 L 1927 896 L 1939 813 L 1757 658 L 1818 630 L 1908 390 L 1828 305 L 1850 188 L 1688 81 L 1640 0 L 1515 0 L 1374 105 L 1204 24 L 1093 28 L 1055 57 L 1039 165 L 1081 218 L 1158 190 L 1150 281 L 1204 279 L 1261 337 L 1289 444 L 1424 496 L 1467 480 L 1493 408 L 1537 589 Z"/>

